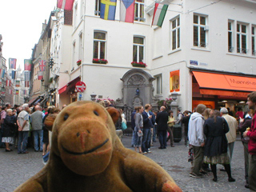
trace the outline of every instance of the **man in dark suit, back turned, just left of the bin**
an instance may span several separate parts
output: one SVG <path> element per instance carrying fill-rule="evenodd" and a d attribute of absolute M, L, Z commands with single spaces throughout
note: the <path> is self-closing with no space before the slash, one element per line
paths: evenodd
<path fill-rule="evenodd" d="M 168 127 L 168 114 L 166 112 L 165 106 L 161 106 L 160 112 L 157 114 L 155 122 L 157 122 L 158 124 L 158 137 L 160 142 L 160 147 L 158 147 L 158 149 L 166 149 L 166 130 Z"/>

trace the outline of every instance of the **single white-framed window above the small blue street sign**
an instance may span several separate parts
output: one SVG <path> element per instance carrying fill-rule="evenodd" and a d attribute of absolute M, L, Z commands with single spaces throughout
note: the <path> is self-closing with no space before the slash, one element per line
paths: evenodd
<path fill-rule="evenodd" d="M 194 46 L 206 47 L 207 28 L 206 16 L 194 14 Z"/>

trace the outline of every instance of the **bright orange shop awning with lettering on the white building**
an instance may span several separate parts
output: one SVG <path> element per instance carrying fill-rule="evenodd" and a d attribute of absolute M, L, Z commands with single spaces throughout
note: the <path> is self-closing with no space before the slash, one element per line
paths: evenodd
<path fill-rule="evenodd" d="M 248 93 L 256 91 L 256 78 L 199 71 L 192 73 L 198 82 L 200 94 L 246 98 Z"/>

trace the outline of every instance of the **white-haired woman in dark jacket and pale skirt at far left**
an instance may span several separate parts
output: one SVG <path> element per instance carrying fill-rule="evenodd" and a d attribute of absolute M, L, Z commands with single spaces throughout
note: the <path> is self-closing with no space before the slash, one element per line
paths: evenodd
<path fill-rule="evenodd" d="M 15 118 L 13 116 L 13 110 L 6 110 L 6 118 L 3 122 L 3 134 L 2 134 L 2 142 L 6 143 L 6 152 L 10 152 L 10 144 L 14 144 L 14 134 L 15 134 Z"/>

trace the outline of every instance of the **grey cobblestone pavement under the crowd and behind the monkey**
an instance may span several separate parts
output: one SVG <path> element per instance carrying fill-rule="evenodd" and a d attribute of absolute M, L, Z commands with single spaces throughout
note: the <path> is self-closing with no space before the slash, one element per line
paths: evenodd
<path fill-rule="evenodd" d="M 133 150 L 130 146 L 130 137 L 123 137 L 124 146 Z M 204 178 L 191 178 L 190 162 L 187 162 L 188 148 L 184 142 L 174 143 L 175 147 L 166 150 L 159 150 L 158 142 L 154 142 L 151 147 L 152 154 L 146 154 L 148 158 L 161 165 L 181 187 L 183 191 L 249 191 L 245 186 L 243 147 L 240 141 L 234 144 L 234 154 L 231 170 L 236 182 L 228 182 L 226 172 L 219 171 L 222 166 L 218 166 L 218 182 L 213 182 L 213 175 Z M 0 149 L 0 192 L 13 191 L 17 186 L 25 182 L 28 178 L 38 173 L 44 166 L 42 164 L 42 153 L 34 152 L 29 148 L 29 154 L 17 154 L 17 150 L 6 153 L 5 149 Z"/>

